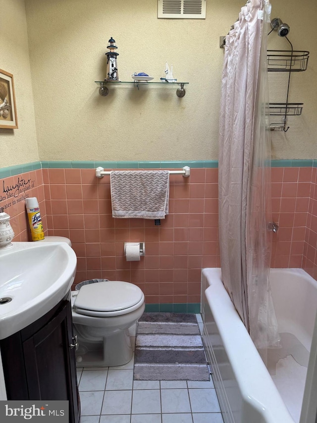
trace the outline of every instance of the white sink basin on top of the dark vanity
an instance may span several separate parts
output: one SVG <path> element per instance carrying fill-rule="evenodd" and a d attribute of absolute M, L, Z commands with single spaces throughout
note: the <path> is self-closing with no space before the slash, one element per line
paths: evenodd
<path fill-rule="evenodd" d="M 77 258 L 65 242 L 13 242 L 0 249 L 0 339 L 50 311 L 70 290 Z"/>

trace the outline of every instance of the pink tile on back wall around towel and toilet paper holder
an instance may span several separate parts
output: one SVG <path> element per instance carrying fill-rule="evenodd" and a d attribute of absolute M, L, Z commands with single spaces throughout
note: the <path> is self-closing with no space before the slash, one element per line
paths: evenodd
<path fill-rule="evenodd" d="M 43 169 L 48 235 L 70 238 L 78 257 L 75 283 L 91 278 L 138 285 L 147 303 L 200 302 L 202 267 L 219 266 L 217 169 L 170 177 L 169 214 L 113 219 L 110 181 L 94 169 Z M 127 262 L 124 242 L 146 243 Z"/>

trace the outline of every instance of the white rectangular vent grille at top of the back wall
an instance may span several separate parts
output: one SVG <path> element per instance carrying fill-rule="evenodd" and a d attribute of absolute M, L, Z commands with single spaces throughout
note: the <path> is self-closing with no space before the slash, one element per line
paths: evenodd
<path fill-rule="evenodd" d="M 158 0 L 158 18 L 205 19 L 207 0 Z"/>

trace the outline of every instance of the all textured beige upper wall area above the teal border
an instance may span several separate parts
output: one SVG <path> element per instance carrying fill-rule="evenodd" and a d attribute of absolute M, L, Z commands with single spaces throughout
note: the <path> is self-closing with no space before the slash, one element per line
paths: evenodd
<path fill-rule="evenodd" d="M 291 76 L 289 101 L 303 114 L 288 119 L 287 133 L 272 132 L 273 158 L 317 157 L 317 2 L 272 1 L 272 17 L 291 27 L 296 50 L 311 52 L 308 70 Z M 14 74 L 19 129 L 0 129 L 0 166 L 34 160 L 217 159 L 218 107 L 225 35 L 238 16 L 239 0 L 207 0 L 206 20 L 157 19 L 157 1 L 0 0 L 1 65 Z M 139 6 L 139 7 L 138 7 Z M 13 28 L 13 30 L 12 30 Z M 110 87 L 106 45 L 118 45 L 121 80 L 145 71 L 159 80 L 165 60 L 186 95 L 174 87 Z M 34 93 L 36 132 L 28 57 Z M 269 48 L 288 49 L 272 33 Z M 285 101 L 286 74 L 269 74 L 271 101 Z"/>

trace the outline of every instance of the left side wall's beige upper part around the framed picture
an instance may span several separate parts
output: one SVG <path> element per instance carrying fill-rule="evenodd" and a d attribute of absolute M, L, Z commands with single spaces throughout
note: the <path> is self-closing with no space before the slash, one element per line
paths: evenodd
<path fill-rule="evenodd" d="M 24 0 L 0 0 L 0 69 L 13 74 L 19 126 L 0 128 L 0 168 L 37 161 Z"/>

